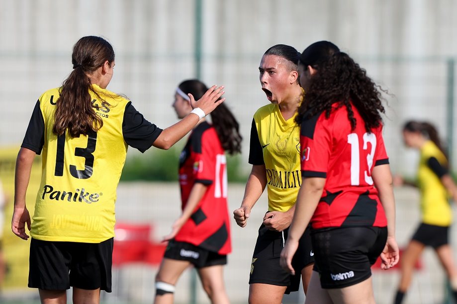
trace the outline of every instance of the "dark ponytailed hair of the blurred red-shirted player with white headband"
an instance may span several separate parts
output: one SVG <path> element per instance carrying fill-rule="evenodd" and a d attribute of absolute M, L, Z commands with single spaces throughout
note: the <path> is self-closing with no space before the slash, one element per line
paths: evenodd
<path fill-rule="evenodd" d="M 198 79 L 184 80 L 178 87 L 184 93 L 192 94 L 195 100 L 200 99 L 208 90 L 206 85 Z M 241 152 L 241 140 L 243 138 L 240 134 L 240 124 L 225 103 L 218 105 L 210 115 L 212 125 L 216 129 L 224 151 L 231 155 Z"/>

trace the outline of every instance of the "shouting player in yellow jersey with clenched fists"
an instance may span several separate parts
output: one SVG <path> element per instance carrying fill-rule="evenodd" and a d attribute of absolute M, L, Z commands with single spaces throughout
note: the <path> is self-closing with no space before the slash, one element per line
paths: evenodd
<path fill-rule="evenodd" d="M 297 62 L 300 53 L 278 44 L 268 49 L 260 63 L 260 82 L 270 104 L 254 114 L 249 163 L 252 164 L 241 207 L 233 212 L 245 227 L 251 209 L 268 189 L 268 212 L 259 228 L 249 278 L 249 303 L 281 303 L 284 293 L 297 291 L 300 276 L 306 293 L 314 262 L 309 229 L 300 238 L 294 257 L 296 275 L 279 265 L 301 184 L 299 126 L 294 119 L 303 98 Z M 300 235 L 301 236 L 301 235 Z"/>

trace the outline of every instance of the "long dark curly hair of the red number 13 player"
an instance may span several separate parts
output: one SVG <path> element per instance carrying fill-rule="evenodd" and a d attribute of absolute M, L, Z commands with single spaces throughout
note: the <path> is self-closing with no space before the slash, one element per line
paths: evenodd
<path fill-rule="evenodd" d="M 380 113 L 385 112 L 381 91 L 387 91 L 366 76 L 366 71 L 336 45 L 328 41 L 311 44 L 301 54 L 299 65 L 305 69 L 311 66 L 317 73 L 305 88 L 305 98 L 295 118 L 297 124 L 323 111 L 328 118 L 336 102 L 338 107 L 346 106 L 352 130 L 356 128 L 352 105 L 362 116 L 367 132 L 382 124 Z"/>

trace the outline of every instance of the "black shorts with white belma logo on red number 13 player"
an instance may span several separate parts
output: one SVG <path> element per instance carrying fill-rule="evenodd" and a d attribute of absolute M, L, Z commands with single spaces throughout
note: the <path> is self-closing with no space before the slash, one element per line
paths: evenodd
<path fill-rule="evenodd" d="M 311 231 L 314 271 L 324 289 L 343 288 L 365 281 L 371 265 L 384 249 L 386 227 L 324 228 Z"/>

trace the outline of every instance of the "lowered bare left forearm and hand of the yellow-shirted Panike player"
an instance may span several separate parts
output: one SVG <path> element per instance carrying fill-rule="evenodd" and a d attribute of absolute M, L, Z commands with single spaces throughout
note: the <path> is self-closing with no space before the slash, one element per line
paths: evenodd
<path fill-rule="evenodd" d="M 35 152 L 26 148 L 21 148 L 17 154 L 16 172 L 14 177 L 14 212 L 11 219 L 11 230 L 22 239 L 28 239 L 25 233 L 25 225 L 30 230 L 30 215 L 25 206 L 25 194 L 30 180 Z"/>

